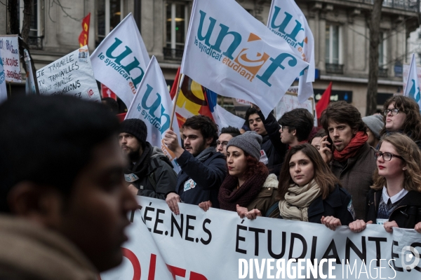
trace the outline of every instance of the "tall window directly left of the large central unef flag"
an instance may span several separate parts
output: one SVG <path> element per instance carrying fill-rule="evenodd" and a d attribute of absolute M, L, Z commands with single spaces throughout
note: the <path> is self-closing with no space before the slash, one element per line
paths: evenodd
<path fill-rule="evenodd" d="M 185 2 L 166 1 L 164 25 L 164 57 L 180 59 L 184 50 L 189 27 L 188 5 Z"/>

